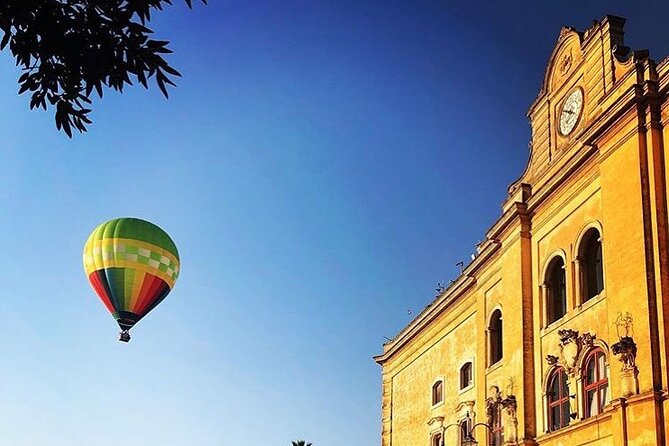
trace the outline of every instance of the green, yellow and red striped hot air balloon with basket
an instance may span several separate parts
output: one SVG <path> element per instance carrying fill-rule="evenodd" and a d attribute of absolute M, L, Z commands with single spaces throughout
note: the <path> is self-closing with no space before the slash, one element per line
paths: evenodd
<path fill-rule="evenodd" d="M 167 297 L 179 276 L 179 252 L 169 235 L 139 218 L 101 224 L 84 246 L 84 270 L 95 293 L 129 330 Z"/>

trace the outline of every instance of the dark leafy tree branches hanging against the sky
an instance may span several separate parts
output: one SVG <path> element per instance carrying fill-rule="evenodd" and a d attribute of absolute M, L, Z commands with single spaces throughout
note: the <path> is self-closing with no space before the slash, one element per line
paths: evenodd
<path fill-rule="evenodd" d="M 197 1 L 197 0 L 195 0 Z M 206 3 L 206 0 L 199 0 Z M 189 8 L 193 0 L 185 0 Z M 171 0 L 1 0 L 0 50 L 9 47 L 19 94 L 30 92 L 30 108 L 55 107 L 56 127 L 72 137 L 91 123 L 91 95 L 105 88 L 122 92 L 133 80 L 160 91 L 181 76 L 163 59 L 169 42 L 152 40 L 151 13 Z"/>

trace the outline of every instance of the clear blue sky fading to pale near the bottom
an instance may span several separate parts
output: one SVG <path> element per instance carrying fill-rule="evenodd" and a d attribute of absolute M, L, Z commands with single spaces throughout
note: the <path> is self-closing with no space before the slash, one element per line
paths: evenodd
<path fill-rule="evenodd" d="M 0 443 L 379 444 L 380 353 L 457 275 L 528 157 L 560 26 L 663 2 L 211 0 L 152 22 L 184 74 L 69 140 L 0 54 Z M 129 344 L 86 281 L 119 216 L 179 247 Z"/>

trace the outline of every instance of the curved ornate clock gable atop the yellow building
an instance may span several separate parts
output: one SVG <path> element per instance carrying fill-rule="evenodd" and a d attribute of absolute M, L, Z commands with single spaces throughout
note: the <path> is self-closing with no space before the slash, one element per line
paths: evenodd
<path fill-rule="evenodd" d="M 528 111 L 531 155 L 524 182 L 535 183 L 567 153 L 588 144 L 583 137 L 624 73 L 647 52 L 624 45 L 625 19 L 606 16 L 579 32 L 563 27 L 539 95 Z"/>

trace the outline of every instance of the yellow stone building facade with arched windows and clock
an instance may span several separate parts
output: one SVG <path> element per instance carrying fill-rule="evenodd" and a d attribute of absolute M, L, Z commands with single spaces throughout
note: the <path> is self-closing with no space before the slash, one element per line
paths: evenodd
<path fill-rule="evenodd" d="M 528 112 L 530 159 L 502 216 L 461 276 L 375 358 L 382 446 L 492 444 L 493 422 L 505 445 L 669 444 L 669 60 L 625 47 L 624 22 L 560 32 Z M 581 253 L 595 233 L 603 290 L 586 300 Z M 564 315 L 549 274 L 566 279 Z M 491 365 L 496 310 L 502 353 Z M 599 413 L 585 395 L 594 351 L 608 386 Z M 558 373 L 566 396 L 549 415 Z"/>

